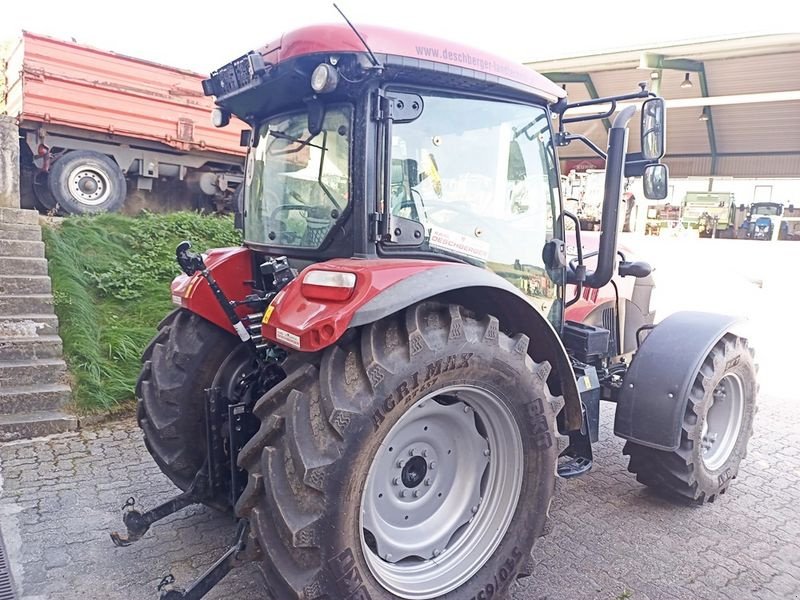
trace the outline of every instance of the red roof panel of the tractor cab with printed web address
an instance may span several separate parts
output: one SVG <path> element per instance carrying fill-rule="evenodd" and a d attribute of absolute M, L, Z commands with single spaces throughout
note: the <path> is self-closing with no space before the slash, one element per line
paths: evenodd
<path fill-rule="evenodd" d="M 533 69 L 483 50 L 388 27 L 359 25 L 358 31 L 376 54 L 403 56 L 488 73 L 514 82 L 517 87 L 551 102 L 566 96 L 560 86 Z M 265 61 L 277 64 L 307 54 L 363 53 L 366 50 L 352 29 L 345 24 L 334 24 L 303 27 L 286 33 L 261 48 L 260 52 Z"/>

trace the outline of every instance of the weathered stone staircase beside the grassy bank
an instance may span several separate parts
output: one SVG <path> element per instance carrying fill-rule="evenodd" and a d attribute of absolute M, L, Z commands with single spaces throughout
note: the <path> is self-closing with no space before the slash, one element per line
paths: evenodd
<path fill-rule="evenodd" d="M 0 208 L 0 441 L 77 428 L 39 215 Z"/>

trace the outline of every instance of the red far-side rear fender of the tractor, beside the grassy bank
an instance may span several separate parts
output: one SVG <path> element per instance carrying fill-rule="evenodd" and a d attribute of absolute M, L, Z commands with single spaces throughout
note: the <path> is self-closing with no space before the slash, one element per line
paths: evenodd
<path fill-rule="evenodd" d="M 253 288 L 245 283 L 253 279 L 252 250 L 245 247 L 215 248 L 204 256 L 206 266 L 228 300 L 242 300 L 253 293 Z M 191 277 L 178 275 L 172 281 L 172 302 L 236 334 L 208 282 L 200 273 L 195 273 Z M 240 317 L 244 317 L 248 312 L 247 307 L 239 306 L 236 312 Z"/>

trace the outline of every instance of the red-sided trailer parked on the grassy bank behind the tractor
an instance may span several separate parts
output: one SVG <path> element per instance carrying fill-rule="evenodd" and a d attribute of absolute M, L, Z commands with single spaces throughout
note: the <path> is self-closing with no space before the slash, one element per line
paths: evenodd
<path fill-rule="evenodd" d="M 0 114 L 19 123 L 23 202 L 66 214 L 119 210 L 133 196 L 151 207 L 229 202 L 242 181 L 241 128 L 212 126 L 202 80 L 23 32 L 0 53 Z"/>

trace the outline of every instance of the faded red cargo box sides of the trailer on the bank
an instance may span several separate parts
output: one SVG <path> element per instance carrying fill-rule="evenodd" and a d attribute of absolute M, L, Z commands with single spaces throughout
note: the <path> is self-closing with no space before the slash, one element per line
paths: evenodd
<path fill-rule="evenodd" d="M 6 110 L 26 128 L 61 125 L 185 152 L 244 154 L 246 125 L 211 125 L 214 103 L 197 73 L 24 32 L 4 75 Z"/>

